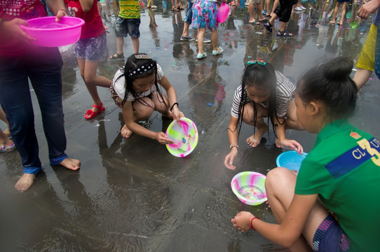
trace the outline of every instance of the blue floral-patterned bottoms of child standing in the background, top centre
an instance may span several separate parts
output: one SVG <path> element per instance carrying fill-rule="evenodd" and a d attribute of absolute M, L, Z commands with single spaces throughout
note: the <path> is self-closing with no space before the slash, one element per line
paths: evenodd
<path fill-rule="evenodd" d="M 218 28 L 217 13 L 217 2 L 212 0 L 197 0 L 193 3 L 192 27 L 194 29 L 209 28 L 215 31 Z"/>

